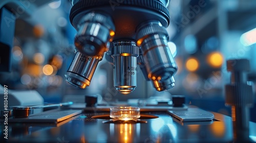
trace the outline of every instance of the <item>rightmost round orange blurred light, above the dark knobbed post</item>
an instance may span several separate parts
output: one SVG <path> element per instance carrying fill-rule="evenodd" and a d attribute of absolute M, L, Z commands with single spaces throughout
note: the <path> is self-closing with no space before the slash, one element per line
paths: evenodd
<path fill-rule="evenodd" d="M 207 56 L 207 62 L 212 67 L 221 67 L 223 56 L 219 52 L 213 52 Z"/>

